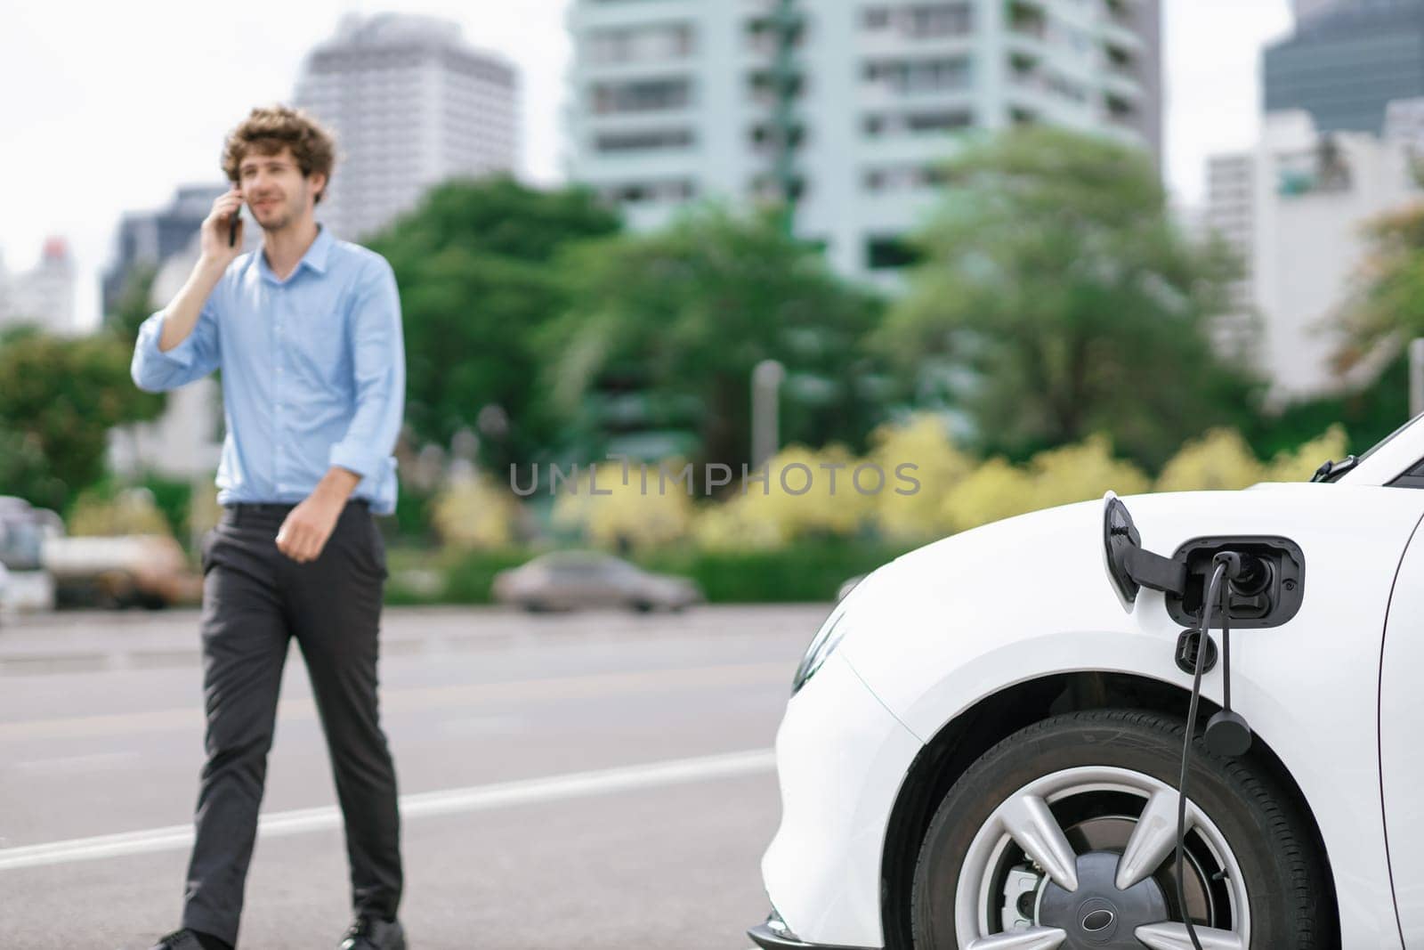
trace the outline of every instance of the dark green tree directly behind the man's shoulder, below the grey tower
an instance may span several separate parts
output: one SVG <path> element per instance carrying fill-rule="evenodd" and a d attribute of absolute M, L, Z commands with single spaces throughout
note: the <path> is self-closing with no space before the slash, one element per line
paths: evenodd
<path fill-rule="evenodd" d="M 567 306 L 554 258 L 618 229 L 587 189 L 537 191 L 508 178 L 451 181 L 370 241 L 390 261 L 406 332 L 406 422 L 422 443 L 481 430 L 480 456 L 504 469 L 557 436 L 538 389 L 535 330 Z M 497 406 L 507 427 L 491 413 Z"/>

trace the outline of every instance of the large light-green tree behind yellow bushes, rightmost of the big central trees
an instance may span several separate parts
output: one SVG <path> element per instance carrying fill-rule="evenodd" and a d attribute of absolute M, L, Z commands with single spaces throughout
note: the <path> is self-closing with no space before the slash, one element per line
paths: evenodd
<path fill-rule="evenodd" d="M 983 449 L 1022 459 L 1104 432 L 1155 470 L 1252 403 L 1206 335 L 1237 265 L 1178 232 L 1145 152 L 1012 130 L 968 145 L 946 182 L 876 342 L 921 383 L 957 379 Z"/>

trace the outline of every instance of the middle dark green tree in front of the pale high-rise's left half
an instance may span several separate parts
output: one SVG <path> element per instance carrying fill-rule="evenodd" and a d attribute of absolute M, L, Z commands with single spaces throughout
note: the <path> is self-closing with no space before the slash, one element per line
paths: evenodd
<path fill-rule="evenodd" d="M 752 369 L 775 359 L 783 440 L 859 449 L 879 420 L 881 380 L 862 348 L 879 301 L 772 212 L 699 208 L 659 232 L 575 246 L 561 269 L 571 305 L 544 340 L 567 413 L 612 393 L 641 397 L 654 423 L 685 406 L 696 461 L 736 469 L 750 459 Z"/>

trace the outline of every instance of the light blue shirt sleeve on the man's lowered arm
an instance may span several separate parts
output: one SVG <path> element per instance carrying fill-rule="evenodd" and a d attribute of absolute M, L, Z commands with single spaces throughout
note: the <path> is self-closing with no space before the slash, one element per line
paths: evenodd
<path fill-rule="evenodd" d="M 332 446 L 330 464 L 362 479 L 380 477 L 406 410 L 406 343 L 396 275 L 384 259 L 369 268 L 352 302 L 352 372 L 356 413 Z"/>

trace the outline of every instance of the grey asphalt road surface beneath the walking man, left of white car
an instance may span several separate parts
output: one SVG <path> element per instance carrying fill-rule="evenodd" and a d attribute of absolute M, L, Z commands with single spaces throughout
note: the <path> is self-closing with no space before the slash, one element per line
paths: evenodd
<path fill-rule="evenodd" d="M 413 950 L 745 949 L 770 746 L 827 610 L 387 611 Z M 142 950 L 177 926 L 199 678 L 192 612 L 0 627 L 0 947 Z M 335 947 L 335 802 L 292 649 L 241 947 Z"/>

